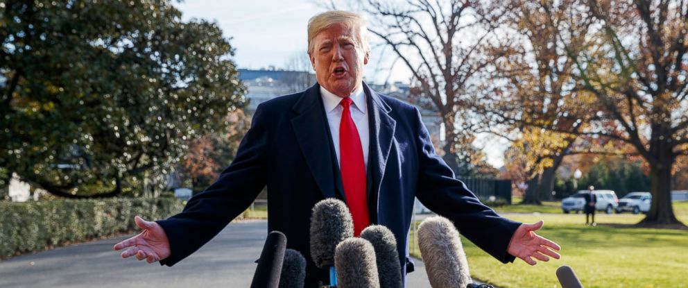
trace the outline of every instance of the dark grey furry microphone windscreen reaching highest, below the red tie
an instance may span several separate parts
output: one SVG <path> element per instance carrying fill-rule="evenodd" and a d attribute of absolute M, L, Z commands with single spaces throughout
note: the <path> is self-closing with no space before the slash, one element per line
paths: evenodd
<path fill-rule="evenodd" d="M 349 208 L 335 198 L 322 200 L 313 207 L 310 230 L 311 257 L 316 266 L 334 265 L 334 249 L 339 242 L 354 236 Z"/>

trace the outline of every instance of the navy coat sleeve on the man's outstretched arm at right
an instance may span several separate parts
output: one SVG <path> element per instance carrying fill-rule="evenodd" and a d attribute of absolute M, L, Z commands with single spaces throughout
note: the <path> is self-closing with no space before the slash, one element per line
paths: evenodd
<path fill-rule="evenodd" d="M 427 128 L 415 110 L 418 130 L 419 177 L 416 196 L 433 212 L 454 222 L 456 229 L 483 251 L 501 262 L 513 262 L 506 252 L 521 223 L 500 217 L 484 205 L 466 185 L 454 178 L 454 171 L 435 153 Z"/>

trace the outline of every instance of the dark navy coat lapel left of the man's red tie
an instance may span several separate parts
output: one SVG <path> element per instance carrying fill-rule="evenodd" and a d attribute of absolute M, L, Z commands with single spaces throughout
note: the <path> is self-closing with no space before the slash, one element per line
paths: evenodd
<path fill-rule="evenodd" d="M 316 179 L 325 198 L 335 197 L 332 175 L 332 151 L 329 145 L 329 129 L 325 126 L 325 115 L 320 98 L 320 85 L 316 84 L 304 92 L 293 106 L 298 114 L 291 119 L 291 126 L 306 158 L 308 168 Z"/>

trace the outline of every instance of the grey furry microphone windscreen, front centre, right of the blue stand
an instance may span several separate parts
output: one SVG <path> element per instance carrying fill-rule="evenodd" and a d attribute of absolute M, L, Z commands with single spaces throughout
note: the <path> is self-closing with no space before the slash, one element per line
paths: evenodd
<path fill-rule="evenodd" d="M 347 238 L 336 247 L 334 269 L 338 288 L 379 288 L 375 248 L 368 240 Z"/>

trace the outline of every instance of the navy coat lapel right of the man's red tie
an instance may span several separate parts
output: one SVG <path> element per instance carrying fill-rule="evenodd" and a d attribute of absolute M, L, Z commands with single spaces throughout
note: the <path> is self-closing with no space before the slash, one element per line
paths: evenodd
<path fill-rule="evenodd" d="M 397 121 L 390 117 L 389 112 L 392 109 L 380 99 L 380 96 L 375 91 L 372 91 L 365 83 L 363 83 L 363 90 L 368 95 L 368 107 L 370 107 L 369 111 L 372 113 L 370 117 L 370 121 L 372 121 L 370 124 L 372 128 L 370 129 L 370 139 L 372 140 L 370 145 L 372 149 L 370 149 L 370 154 L 368 155 L 368 165 L 373 164 L 372 169 L 370 169 L 373 182 L 372 191 L 368 194 L 368 203 L 370 203 L 370 208 L 375 208 L 375 210 L 370 211 L 377 212 L 378 194 L 390 149 L 392 148 Z M 373 157 L 375 159 L 372 159 Z"/>

